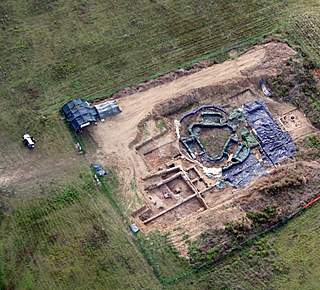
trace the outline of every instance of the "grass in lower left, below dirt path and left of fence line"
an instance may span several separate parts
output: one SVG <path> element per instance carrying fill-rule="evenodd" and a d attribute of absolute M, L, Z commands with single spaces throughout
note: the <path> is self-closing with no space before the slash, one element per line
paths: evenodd
<path fill-rule="evenodd" d="M 4 289 L 158 289 L 129 228 L 91 174 L 47 196 L 11 200 L 1 231 Z"/>

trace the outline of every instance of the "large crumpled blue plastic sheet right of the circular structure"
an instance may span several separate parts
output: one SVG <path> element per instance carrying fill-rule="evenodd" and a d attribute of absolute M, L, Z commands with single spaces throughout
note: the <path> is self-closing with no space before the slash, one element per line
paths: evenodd
<path fill-rule="evenodd" d="M 275 165 L 295 155 L 296 147 L 291 136 L 274 121 L 264 102 L 255 101 L 244 105 L 244 114 L 255 130 L 266 161 Z"/>

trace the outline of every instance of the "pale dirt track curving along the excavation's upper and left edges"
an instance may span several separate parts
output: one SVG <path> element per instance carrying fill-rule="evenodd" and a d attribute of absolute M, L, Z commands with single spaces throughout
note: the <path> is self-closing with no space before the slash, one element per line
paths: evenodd
<path fill-rule="evenodd" d="M 91 133 L 99 144 L 98 159 L 107 166 L 117 164 L 117 168 L 121 169 L 118 173 L 130 207 L 135 207 L 132 180 L 143 176 L 146 167 L 135 150 L 129 148 L 129 144 L 136 137 L 139 122 L 151 113 L 156 104 L 193 89 L 239 81 L 248 76 L 275 74 L 277 68 L 294 54 L 295 52 L 287 45 L 270 42 L 254 47 L 235 60 L 211 66 L 145 92 L 119 99 L 123 112 L 92 128 Z"/>

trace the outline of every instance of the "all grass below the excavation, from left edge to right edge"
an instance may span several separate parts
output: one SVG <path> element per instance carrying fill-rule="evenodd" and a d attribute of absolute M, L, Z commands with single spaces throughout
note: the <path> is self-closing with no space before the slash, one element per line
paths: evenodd
<path fill-rule="evenodd" d="M 316 289 L 320 205 L 197 271 L 165 237 L 130 234 L 113 175 L 102 180 L 102 187 L 87 172 L 75 181 L 44 188 L 46 196 L 10 200 L 13 212 L 6 214 L 0 244 L 5 287 Z"/>

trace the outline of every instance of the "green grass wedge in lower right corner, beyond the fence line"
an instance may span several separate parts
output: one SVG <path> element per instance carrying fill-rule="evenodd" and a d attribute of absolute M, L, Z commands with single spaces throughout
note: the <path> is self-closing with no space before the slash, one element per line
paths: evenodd
<path fill-rule="evenodd" d="M 318 289 L 320 204 L 170 289 Z"/>

